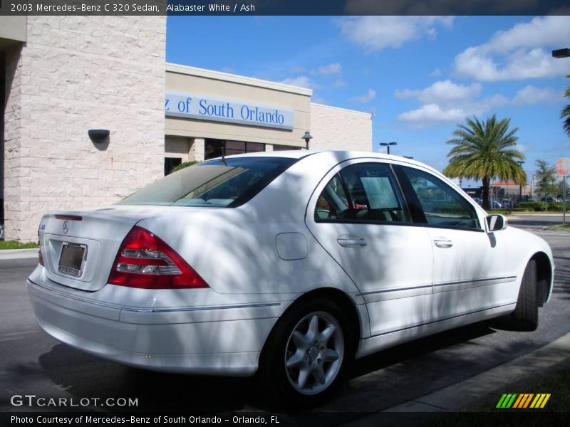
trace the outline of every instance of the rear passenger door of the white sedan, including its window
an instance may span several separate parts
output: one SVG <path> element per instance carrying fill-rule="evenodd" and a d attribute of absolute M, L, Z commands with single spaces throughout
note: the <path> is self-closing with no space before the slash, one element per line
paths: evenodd
<path fill-rule="evenodd" d="M 411 223 L 390 164 L 338 165 L 314 191 L 306 225 L 363 295 L 371 335 L 430 320 L 430 237 Z"/>

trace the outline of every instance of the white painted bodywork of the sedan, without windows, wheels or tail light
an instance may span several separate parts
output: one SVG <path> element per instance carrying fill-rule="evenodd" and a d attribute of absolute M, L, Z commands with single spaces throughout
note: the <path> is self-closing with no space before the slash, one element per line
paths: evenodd
<path fill-rule="evenodd" d="M 461 191 L 457 194 L 475 211 L 479 231 L 316 221 L 321 191 L 351 164 L 411 167 L 455 189 L 419 162 L 360 152 L 242 157 L 299 161 L 236 208 L 116 205 L 43 216 L 39 238 L 45 267 L 38 265 L 27 281 L 39 325 L 61 342 L 136 367 L 247 376 L 257 371 L 276 322 L 314 290 L 336 290 L 353 305 L 356 358 L 512 312 L 525 266 L 536 253 L 549 260 L 551 292 L 554 263 L 546 242 L 510 227 L 489 231 L 485 211 Z M 227 157 L 232 158 L 239 156 Z M 82 219 L 67 221 L 64 234 L 65 220 L 58 215 Z M 121 243 L 135 225 L 159 236 L 209 288 L 153 290 L 107 283 Z M 348 245 L 341 246 L 338 238 Z M 87 246 L 80 278 L 58 272 L 63 242 Z"/>

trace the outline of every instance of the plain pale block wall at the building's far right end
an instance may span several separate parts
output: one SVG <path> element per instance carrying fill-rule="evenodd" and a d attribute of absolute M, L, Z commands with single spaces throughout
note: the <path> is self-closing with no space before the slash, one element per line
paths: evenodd
<path fill-rule="evenodd" d="M 372 151 L 372 115 L 311 104 L 309 149 Z"/>

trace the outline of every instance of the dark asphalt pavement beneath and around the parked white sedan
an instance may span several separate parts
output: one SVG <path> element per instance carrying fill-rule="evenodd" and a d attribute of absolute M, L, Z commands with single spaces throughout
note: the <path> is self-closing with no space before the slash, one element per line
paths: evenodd
<path fill-rule="evenodd" d="M 570 233 L 544 231 L 542 224 L 515 218 L 512 225 L 522 223 L 545 238 L 554 251 L 554 292 L 549 304 L 540 310 L 539 329 L 509 332 L 487 324 L 470 325 L 360 359 L 338 394 L 316 408 L 318 412 L 336 412 L 325 424 L 351 423 L 363 413 L 412 401 L 528 354 L 570 332 Z M 35 265 L 33 258 L 0 260 L 0 411 L 41 409 L 14 406 L 10 402 L 14 394 L 76 400 L 138 399 L 138 406 L 124 408 L 128 411 L 229 413 L 268 409 L 264 396 L 249 379 L 141 371 L 56 342 L 38 328 L 28 302 L 24 282 Z"/>

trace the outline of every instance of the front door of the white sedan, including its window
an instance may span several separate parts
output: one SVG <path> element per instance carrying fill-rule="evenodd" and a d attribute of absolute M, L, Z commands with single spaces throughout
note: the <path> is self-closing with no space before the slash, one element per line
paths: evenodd
<path fill-rule="evenodd" d="M 398 167 L 397 173 L 433 249 L 430 315 L 444 319 L 511 302 L 509 292 L 502 292 L 515 280 L 505 277 L 507 247 L 502 234 L 487 233 L 484 216 L 467 196 L 432 172 Z"/>

